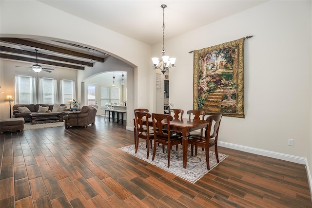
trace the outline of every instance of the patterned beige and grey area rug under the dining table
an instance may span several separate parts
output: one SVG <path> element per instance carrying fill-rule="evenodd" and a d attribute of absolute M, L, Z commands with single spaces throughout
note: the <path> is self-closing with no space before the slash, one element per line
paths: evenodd
<path fill-rule="evenodd" d="M 154 147 L 153 147 L 154 148 Z M 146 146 L 145 142 L 139 143 L 137 154 L 135 154 L 135 145 L 130 145 L 127 147 L 119 148 L 122 151 L 125 151 L 129 154 L 136 156 L 139 159 L 145 160 L 148 163 L 156 165 L 157 167 L 167 170 L 179 176 L 191 183 L 195 183 L 199 180 L 203 175 L 207 172 L 215 168 L 218 163 L 215 159 L 215 152 L 209 151 L 209 165 L 210 170 L 207 170 L 206 165 L 206 155 L 205 151 L 202 151 L 201 148 L 198 148 L 197 155 L 191 156 L 191 147 L 188 149 L 188 157 L 187 157 L 187 167 L 183 168 L 183 154 L 182 154 L 182 145 L 178 145 L 178 151 L 176 151 L 176 147 L 172 147 L 171 155 L 170 155 L 170 167 L 167 167 L 168 164 L 168 153 L 167 148 L 165 148 L 165 153 L 162 153 L 162 146 L 159 145 L 156 148 L 155 159 L 152 161 L 153 157 L 153 149 L 150 150 L 149 159 L 146 159 Z M 195 148 L 194 148 L 195 149 Z M 195 151 L 195 150 L 194 150 Z M 221 163 L 228 155 L 218 153 L 219 162 Z"/>

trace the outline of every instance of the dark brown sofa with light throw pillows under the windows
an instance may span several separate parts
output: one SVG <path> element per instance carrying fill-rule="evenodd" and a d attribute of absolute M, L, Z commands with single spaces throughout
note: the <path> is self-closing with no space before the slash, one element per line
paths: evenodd
<path fill-rule="evenodd" d="M 26 107 L 26 108 L 25 108 Z M 13 105 L 13 115 L 16 118 L 24 118 L 25 123 L 29 123 L 32 119 L 29 113 L 38 112 L 65 112 L 67 109 L 66 104 L 15 104 Z M 48 116 L 48 114 L 47 114 Z"/>

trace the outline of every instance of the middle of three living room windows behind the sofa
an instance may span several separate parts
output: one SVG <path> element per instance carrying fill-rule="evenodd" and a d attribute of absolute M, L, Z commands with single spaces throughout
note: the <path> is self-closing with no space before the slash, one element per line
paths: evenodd
<path fill-rule="evenodd" d="M 53 78 L 39 78 L 38 102 L 52 105 L 58 103 L 57 80 Z"/>

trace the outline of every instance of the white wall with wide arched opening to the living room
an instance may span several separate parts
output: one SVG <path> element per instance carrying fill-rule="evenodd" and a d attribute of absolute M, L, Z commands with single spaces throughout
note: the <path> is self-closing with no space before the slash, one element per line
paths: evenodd
<path fill-rule="evenodd" d="M 1 37 L 49 38 L 80 44 L 117 57 L 134 68 L 133 82 L 128 79 L 127 88 L 130 89 L 131 85 L 135 93 L 127 97 L 127 109 L 131 111 L 130 109 L 142 106 L 154 109 L 150 87 L 153 75 L 146 70 L 151 67 L 151 46 L 39 1 L 0 1 L 0 4 Z M 29 12 L 34 11 L 34 8 L 36 12 Z M 80 73 L 78 82 L 81 80 L 79 78 Z M 143 96 L 138 98 L 137 95 Z M 127 128 L 133 128 L 133 122 L 127 122 Z"/>

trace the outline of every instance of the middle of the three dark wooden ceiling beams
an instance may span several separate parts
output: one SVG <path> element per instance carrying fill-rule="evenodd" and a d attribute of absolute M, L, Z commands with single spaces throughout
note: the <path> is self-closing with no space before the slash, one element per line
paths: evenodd
<path fill-rule="evenodd" d="M 20 49 L 16 49 L 16 48 L 10 48 L 10 47 L 6 47 L 6 46 L 0 46 L 0 51 L 1 52 L 8 52 L 8 53 L 14 53 L 14 54 L 21 54 L 21 55 L 36 57 L 36 52 L 24 51 L 24 50 L 20 50 Z M 74 60 L 74 59 L 71 59 L 71 58 L 56 57 L 56 56 L 40 54 L 40 53 L 38 53 L 38 57 L 39 58 L 46 58 L 46 59 L 52 59 L 52 60 L 57 60 L 57 61 L 63 61 L 63 62 L 69 62 L 69 63 L 73 63 L 73 64 L 79 64 L 79 65 L 93 67 L 93 63 L 89 63 L 89 62 L 85 62 L 85 61 L 79 61 L 79 60 Z"/>

